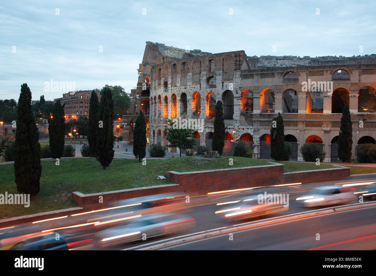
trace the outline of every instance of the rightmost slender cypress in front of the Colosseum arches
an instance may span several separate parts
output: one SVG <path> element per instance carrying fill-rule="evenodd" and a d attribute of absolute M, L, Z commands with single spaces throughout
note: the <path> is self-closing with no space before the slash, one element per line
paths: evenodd
<path fill-rule="evenodd" d="M 338 137 L 338 158 L 343 162 L 348 162 L 351 158 L 352 150 L 352 122 L 349 106 L 343 107 L 340 137 Z"/>

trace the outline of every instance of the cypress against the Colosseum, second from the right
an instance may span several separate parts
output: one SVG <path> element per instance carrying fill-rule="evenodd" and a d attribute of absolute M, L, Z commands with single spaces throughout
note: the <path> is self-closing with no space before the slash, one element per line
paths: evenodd
<path fill-rule="evenodd" d="M 273 122 L 276 121 L 276 127 Z M 274 160 L 282 160 L 284 157 L 285 127 L 283 118 L 278 112 L 278 116 L 273 118 L 272 127 L 270 129 L 270 156 Z"/>

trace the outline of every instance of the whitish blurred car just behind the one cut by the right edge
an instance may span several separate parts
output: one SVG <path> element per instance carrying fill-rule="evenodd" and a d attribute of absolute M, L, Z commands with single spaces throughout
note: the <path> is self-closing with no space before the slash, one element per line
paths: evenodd
<path fill-rule="evenodd" d="M 354 187 L 324 186 L 312 189 L 297 198 L 297 203 L 305 207 L 349 204 L 356 200 Z"/>

